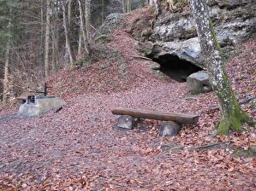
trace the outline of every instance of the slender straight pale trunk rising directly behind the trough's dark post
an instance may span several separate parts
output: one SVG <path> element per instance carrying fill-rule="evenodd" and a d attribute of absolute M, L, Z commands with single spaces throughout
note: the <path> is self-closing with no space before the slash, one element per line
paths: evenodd
<path fill-rule="evenodd" d="M 51 28 L 51 0 L 46 1 L 46 27 L 45 27 L 45 78 L 49 76 L 49 45 Z"/>

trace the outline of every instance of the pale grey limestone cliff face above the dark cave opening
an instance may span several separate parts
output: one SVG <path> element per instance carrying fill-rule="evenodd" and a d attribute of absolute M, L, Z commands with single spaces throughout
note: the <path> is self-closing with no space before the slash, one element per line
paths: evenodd
<path fill-rule="evenodd" d="M 224 50 L 255 37 L 255 0 L 208 0 L 207 3 L 217 38 Z M 182 60 L 204 67 L 188 4 L 177 9 L 176 13 L 163 9 L 156 20 L 147 22 L 148 25 L 141 27 L 141 20 L 136 20 L 131 29 L 135 38 L 152 42 L 147 55 L 156 59 L 163 55 L 177 55 Z"/>

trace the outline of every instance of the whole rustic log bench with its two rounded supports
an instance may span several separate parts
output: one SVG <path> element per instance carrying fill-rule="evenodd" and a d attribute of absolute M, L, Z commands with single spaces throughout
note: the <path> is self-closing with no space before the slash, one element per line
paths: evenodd
<path fill-rule="evenodd" d="M 117 120 L 116 126 L 124 129 L 133 129 L 138 123 L 137 118 L 165 121 L 159 130 L 160 136 L 176 136 L 181 130 L 182 124 L 196 124 L 199 120 L 198 115 L 164 113 L 132 108 L 114 108 L 111 112 L 116 115 L 122 115 Z"/>

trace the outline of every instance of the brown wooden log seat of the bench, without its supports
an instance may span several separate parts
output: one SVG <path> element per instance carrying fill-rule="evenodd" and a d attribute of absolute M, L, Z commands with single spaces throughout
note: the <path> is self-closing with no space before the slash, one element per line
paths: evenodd
<path fill-rule="evenodd" d="M 136 118 L 156 119 L 163 121 L 176 121 L 179 124 L 196 124 L 199 120 L 198 115 L 188 115 L 182 113 L 164 113 L 152 110 L 141 110 L 132 108 L 114 108 L 111 110 L 116 115 L 130 115 Z"/>

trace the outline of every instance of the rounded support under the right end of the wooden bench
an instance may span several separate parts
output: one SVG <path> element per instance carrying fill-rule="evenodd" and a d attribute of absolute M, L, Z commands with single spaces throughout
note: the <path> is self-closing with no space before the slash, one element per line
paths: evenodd
<path fill-rule="evenodd" d="M 181 128 L 181 124 L 174 121 L 165 121 L 159 129 L 159 136 L 177 136 Z"/>

